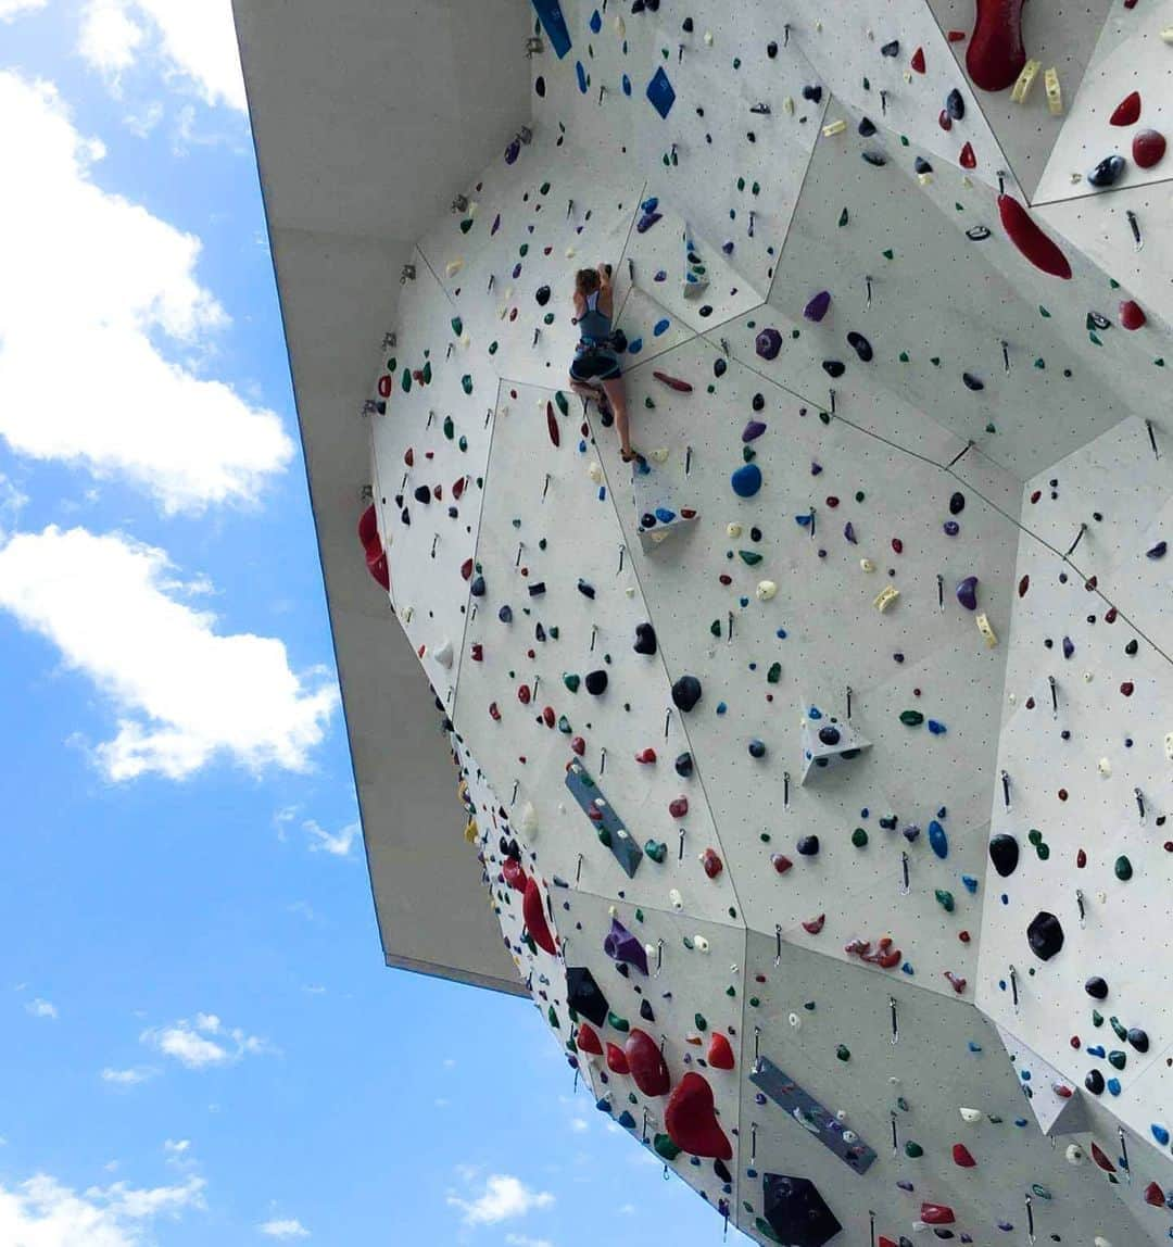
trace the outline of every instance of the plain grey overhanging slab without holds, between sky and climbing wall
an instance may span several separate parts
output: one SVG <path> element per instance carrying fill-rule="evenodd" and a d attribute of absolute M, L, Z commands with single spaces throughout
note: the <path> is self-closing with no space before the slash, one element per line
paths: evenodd
<path fill-rule="evenodd" d="M 314 522 L 388 964 L 521 991 L 460 834 L 448 743 L 355 524 L 359 416 L 399 271 L 529 113 L 522 0 L 234 0 Z"/>

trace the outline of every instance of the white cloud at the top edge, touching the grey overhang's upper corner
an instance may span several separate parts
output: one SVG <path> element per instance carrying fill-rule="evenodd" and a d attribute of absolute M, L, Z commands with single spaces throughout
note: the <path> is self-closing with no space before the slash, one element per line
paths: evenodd
<path fill-rule="evenodd" d="M 246 110 L 232 0 L 86 0 L 79 51 L 115 84 L 148 55 L 206 104 Z"/>

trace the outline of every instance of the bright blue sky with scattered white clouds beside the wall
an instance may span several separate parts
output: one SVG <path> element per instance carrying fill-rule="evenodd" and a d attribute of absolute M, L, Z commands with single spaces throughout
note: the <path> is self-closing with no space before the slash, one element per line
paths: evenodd
<path fill-rule="evenodd" d="M 381 963 L 241 100 L 227 0 L 0 0 L 0 1243 L 719 1242 Z"/>

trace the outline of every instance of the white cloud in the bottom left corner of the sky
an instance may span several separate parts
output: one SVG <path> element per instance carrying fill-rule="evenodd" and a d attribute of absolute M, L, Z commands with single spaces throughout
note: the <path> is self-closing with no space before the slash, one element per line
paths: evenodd
<path fill-rule="evenodd" d="M 44 1173 L 0 1185 L 0 1242 L 21 1247 L 140 1247 L 146 1222 L 203 1208 L 203 1180 L 138 1190 L 125 1182 L 71 1191 Z"/>

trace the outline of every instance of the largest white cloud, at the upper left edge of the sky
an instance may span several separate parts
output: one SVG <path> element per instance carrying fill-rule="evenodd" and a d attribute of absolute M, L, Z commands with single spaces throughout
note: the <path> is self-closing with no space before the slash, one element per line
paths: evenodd
<path fill-rule="evenodd" d="M 105 148 L 51 84 L 0 72 L 0 436 L 128 479 L 167 513 L 251 504 L 293 459 L 280 419 L 161 349 L 206 355 L 228 324 L 196 276 L 199 239 L 95 185 Z M 65 343 L 84 389 L 49 419 Z"/>

